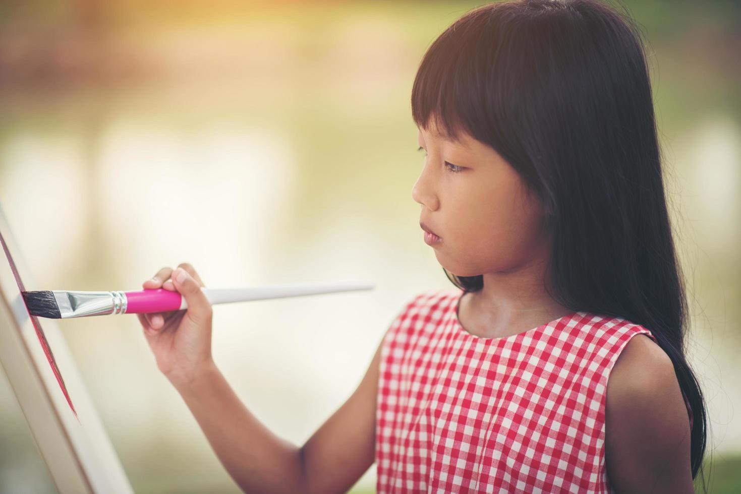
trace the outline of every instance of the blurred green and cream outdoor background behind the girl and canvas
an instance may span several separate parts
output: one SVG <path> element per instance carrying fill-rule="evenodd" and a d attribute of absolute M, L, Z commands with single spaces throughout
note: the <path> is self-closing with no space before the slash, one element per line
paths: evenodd
<path fill-rule="evenodd" d="M 0 202 L 30 290 L 373 281 L 214 310 L 216 362 L 303 444 L 359 384 L 402 305 L 453 286 L 422 241 L 409 96 L 475 1 L 33 0 L 0 7 Z M 740 492 L 741 9 L 625 1 L 648 37 L 708 398 L 711 492 Z M 137 493 L 239 492 L 136 318 L 61 321 Z M 73 397 L 74 398 L 74 397 Z M 0 373 L 0 491 L 53 484 Z M 371 492 L 375 467 L 353 492 Z"/>

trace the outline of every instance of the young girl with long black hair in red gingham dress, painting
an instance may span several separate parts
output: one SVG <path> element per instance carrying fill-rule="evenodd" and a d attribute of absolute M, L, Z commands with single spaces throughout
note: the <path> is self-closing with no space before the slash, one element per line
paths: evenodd
<path fill-rule="evenodd" d="M 211 357 L 190 264 L 144 288 L 159 369 L 237 484 L 341 493 L 692 493 L 705 405 L 639 32 L 596 0 L 462 16 L 425 53 L 412 190 L 456 289 L 403 307 L 348 401 L 302 447 L 266 429 Z M 638 336 L 634 338 L 634 336 Z"/>

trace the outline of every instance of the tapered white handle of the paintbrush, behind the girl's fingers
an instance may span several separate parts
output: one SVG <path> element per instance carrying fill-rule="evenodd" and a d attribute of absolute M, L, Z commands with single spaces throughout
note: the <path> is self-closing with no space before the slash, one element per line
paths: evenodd
<path fill-rule="evenodd" d="M 243 288 L 205 288 L 204 293 L 210 304 L 230 304 L 250 300 L 267 300 L 269 298 L 301 297 L 319 293 L 350 292 L 353 290 L 372 290 L 376 285 L 370 283 L 292 283 L 274 284 L 262 287 Z M 185 309 L 187 302 L 182 298 L 180 309 Z"/>

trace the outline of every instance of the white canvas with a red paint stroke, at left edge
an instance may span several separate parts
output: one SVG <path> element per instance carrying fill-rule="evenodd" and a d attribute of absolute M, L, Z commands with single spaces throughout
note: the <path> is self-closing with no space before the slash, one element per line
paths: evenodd
<path fill-rule="evenodd" d="M 53 319 L 30 316 L 38 287 L 0 207 L 0 363 L 60 493 L 133 493 Z"/>

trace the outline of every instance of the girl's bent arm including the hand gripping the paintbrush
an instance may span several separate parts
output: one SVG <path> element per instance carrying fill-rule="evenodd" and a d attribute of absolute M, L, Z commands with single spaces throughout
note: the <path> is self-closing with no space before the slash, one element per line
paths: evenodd
<path fill-rule="evenodd" d="M 211 306 L 190 264 L 159 270 L 144 288 L 177 290 L 187 310 L 139 314 L 164 373 L 242 490 L 344 493 L 373 464 L 380 348 L 357 390 L 302 447 L 279 438 L 247 410 L 211 356 Z M 182 278 L 180 277 L 182 276 Z"/>

